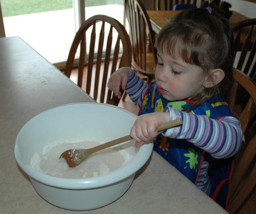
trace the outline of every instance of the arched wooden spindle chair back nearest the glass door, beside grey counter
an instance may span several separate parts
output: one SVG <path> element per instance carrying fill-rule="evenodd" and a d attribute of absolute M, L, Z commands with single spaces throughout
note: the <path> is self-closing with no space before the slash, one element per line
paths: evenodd
<path fill-rule="evenodd" d="M 118 105 L 120 99 L 107 89 L 107 79 L 118 67 L 131 66 L 132 47 L 124 26 L 104 15 L 86 20 L 76 33 L 68 54 L 64 73 L 69 78 L 79 44 L 78 86 L 85 87 L 84 91 L 100 103 Z"/>

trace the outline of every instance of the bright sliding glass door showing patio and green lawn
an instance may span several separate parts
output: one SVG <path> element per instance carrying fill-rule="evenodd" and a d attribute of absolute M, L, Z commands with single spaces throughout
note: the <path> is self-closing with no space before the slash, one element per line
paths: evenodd
<path fill-rule="evenodd" d="M 19 36 L 56 65 L 66 61 L 85 18 L 105 14 L 124 20 L 123 0 L 1 0 L 1 8 L 5 36 Z"/>

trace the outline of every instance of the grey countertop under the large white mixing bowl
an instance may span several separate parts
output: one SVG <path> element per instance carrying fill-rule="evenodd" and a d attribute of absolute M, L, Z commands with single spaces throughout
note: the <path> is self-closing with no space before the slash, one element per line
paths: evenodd
<path fill-rule="evenodd" d="M 227 213 L 154 151 L 127 192 L 112 204 L 72 211 L 43 200 L 15 161 L 18 132 L 32 117 L 47 109 L 95 101 L 21 38 L 0 38 L 0 50 L 0 213 Z"/>

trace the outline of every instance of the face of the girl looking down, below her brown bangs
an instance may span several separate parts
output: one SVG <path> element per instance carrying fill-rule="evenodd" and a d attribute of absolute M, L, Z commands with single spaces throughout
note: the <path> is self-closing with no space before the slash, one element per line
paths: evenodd
<path fill-rule="evenodd" d="M 156 85 L 162 96 L 169 100 L 189 99 L 204 89 L 203 70 L 182 59 L 173 59 L 166 52 L 158 52 Z"/>

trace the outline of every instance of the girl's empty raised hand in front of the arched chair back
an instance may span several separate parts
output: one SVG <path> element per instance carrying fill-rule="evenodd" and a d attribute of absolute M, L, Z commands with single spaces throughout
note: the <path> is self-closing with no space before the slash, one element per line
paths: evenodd
<path fill-rule="evenodd" d="M 108 80 L 108 89 L 110 89 L 110 91 L 113 91 L 119 99 L 122 95 L 120 87 L 123 90 L 126 89 L 129 71 L 130 67 L 121 67 L 118 70 L 116 70 Z"/>

